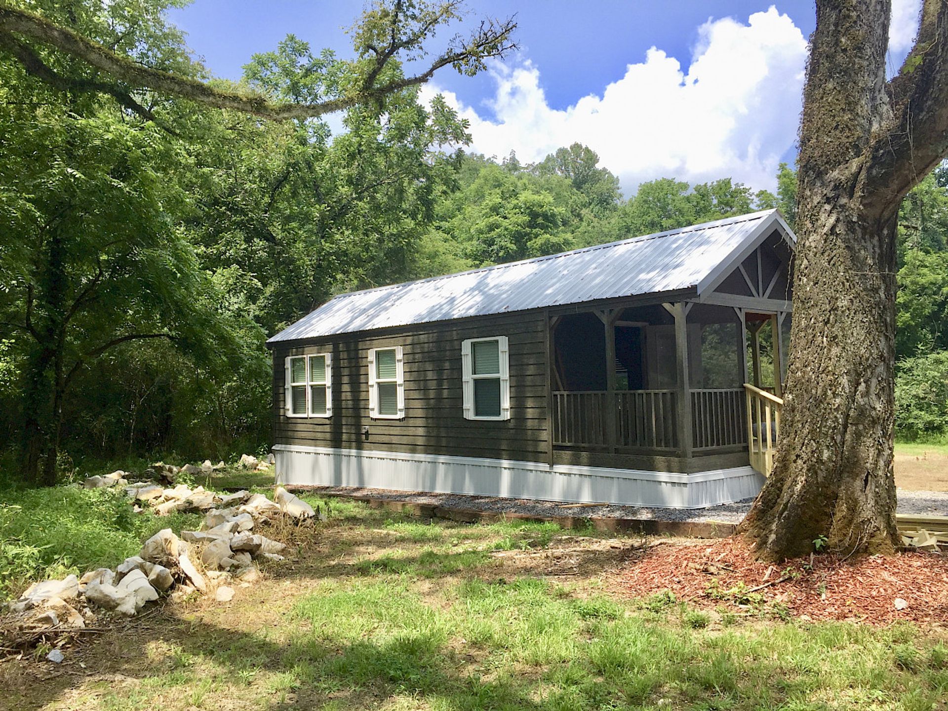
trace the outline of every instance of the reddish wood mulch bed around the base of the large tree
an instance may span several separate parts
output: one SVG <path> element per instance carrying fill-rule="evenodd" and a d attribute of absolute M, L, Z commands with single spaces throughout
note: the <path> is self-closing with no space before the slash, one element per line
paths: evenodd
<path fill-rule="evenodd" d="M 641 549 L 619 572 L 624 593 L 636 597 L 670 590 L 704 608 L 779 603 L 812 620 L 850 620 L 873 625 L 896 621 L 948 623 L 948 556 L 922 551 L 843 560 L 814 556 L 771 566 L 754 558 L 740 538 L 714 542 L 660 543 Z M 768 574 L 769 573 L 769 574 Z M 731 592 L 735 587 L 739 593 Z M 752 597 L 756 597 L 752 595 Z M 895 607 L 896 598 L 908 605 Z"/>

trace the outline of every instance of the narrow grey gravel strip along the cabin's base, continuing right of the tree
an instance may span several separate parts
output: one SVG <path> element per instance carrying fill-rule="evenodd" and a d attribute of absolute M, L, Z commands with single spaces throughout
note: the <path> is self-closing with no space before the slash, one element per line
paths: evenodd
<path fill-rule="evenodd" d="M 345 494 L 387 501 L 427 503 L 453 509 L 516 513 L 529 516 L 577 516 L 589 519 L 654 519 L 693 522 L 719 521 L 723 523 L 739 523 L 750 510 L 753 502 L 752 499 L 745 499 L 744 501 L 723 503 L 719 506 L 708 506 L 701 509 L 675 509 L 620 506 L 617 504 L 571 506 L 556 503 L 556 501 L 501 499 L 497 497 L 465 496 L 463 494 L 429 494 L 348 486 L 315 486 L 310 490 L 317 496 L 320 494 Z M 948 516 L 948 492 L 903 491 L 899 489 L 898 496 L 900 514 Z"/>

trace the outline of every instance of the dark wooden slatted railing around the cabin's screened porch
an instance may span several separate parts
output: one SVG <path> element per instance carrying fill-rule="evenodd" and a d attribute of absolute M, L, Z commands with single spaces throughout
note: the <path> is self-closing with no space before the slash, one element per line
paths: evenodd
<path fill-rule="evenodd" d="M 746 445 L 741 389 L 693 390 L 690 396 L 695 449 Z M 552 419 L 555 447 L 671 452 L 682 446 L 673 390 L 554 392 Z"/>

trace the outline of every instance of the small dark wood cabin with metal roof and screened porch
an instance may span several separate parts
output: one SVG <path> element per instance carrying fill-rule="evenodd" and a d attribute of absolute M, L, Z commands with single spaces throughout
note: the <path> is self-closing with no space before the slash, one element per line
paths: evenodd
<path fill-rule="evenodd" d="M 277 481 L 752 497 L 778 436 L 794 245 L 765 210 L 337 296 L 267 341 Z"/>

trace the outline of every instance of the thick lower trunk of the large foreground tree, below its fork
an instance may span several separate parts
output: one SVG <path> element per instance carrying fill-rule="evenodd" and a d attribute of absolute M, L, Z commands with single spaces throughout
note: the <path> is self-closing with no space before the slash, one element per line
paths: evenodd
<path fill-rule="evenodd" d="M 745 522 L 765 557 L 890 553 L 895 215 L 862 222 L 846 201 L 801 206 L 793 334 L 775 471 Z"/>

